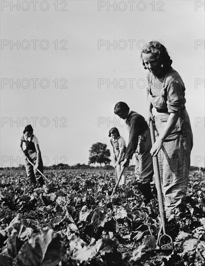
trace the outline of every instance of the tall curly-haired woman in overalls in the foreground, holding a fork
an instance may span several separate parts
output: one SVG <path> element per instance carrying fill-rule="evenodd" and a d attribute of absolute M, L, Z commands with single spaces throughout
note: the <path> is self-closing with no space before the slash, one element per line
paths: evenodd
<path fill-rule="evenodd" d="M 172 60 L 159 42 L 146 44 L 141 53 L 142 64 L 148 69 L 147 123 L 155 121 L 158 137 L 151 155 L 159 156 L 165 210 L 168 221 L 175 207 L 185 204 L 188 188 L 190 152 L 193 136 L 185 107 L 185 85 L 171 67 Z M 157 114 L 153 117 L 153 106 Z"/>

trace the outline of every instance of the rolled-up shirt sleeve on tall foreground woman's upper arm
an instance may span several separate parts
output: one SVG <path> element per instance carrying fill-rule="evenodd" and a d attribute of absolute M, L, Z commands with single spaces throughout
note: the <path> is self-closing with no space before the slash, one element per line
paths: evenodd
<path fill-rule="evenodd" d="M 172 75 L 167 78 L 166 83 L 168 112 L 173 113 L 183 109 L 185 104 L 183 81 L 179 77 Z"/>

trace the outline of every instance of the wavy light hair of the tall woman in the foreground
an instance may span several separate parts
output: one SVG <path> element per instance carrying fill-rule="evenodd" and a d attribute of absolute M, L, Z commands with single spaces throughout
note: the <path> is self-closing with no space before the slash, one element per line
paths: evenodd
<path fill-rule="evenodd" d="M 149 54 L 149 53 L 152 53 L 152 55 L 163 65 L 163 67 L 169 67 L 172 65 L 172 60 L 170 59 L 167 49 L 164 47 L 163 44 L 157 41 L 152 41 L 147 43 L 145 48 L 141 52 L 141 59 L 142 59 L 142 54 Z M 144 66 L 144 69 L 147 69 L 143 59 L 142 59 L 142 65 Z"/>

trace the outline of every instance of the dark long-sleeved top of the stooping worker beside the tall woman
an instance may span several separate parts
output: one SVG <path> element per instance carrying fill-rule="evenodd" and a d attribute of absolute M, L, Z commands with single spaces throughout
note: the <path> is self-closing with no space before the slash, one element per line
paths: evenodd
<path fill-rule="evenodd" d="M 148 125 L 145 119 L 137 112 L 130 111 L 126 118 L 126 128 L 129 132 L 129 142 L 126 148 L 126 159 L 132 159 L 138 146 L 139 136 L 145 132 Z"/>

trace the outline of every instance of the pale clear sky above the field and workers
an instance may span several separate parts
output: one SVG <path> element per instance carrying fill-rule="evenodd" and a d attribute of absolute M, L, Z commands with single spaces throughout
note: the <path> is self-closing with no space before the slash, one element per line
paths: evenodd
<path fill-rule="evenodd" d="M 22 164 L 20 137 L 32 124 L 44 165 L 88 163 L 92 144 L 110 147 L 126 102 L 145 117 L 145 44 L 160 41 L 186 87 L 194 147 L 205 166 L 204 1 L 0 1 L 0 167 Z M 112 159 L 112 151 L 111 157 Z"/>

